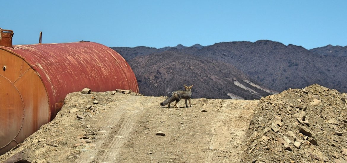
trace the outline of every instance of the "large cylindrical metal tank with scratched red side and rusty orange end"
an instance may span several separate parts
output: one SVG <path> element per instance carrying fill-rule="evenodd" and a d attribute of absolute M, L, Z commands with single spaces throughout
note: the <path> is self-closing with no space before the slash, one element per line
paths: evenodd
<path fill-rule="evenodd" d="M 99 43 L 0 46 L 0 155 L 51 121 L 68 93 L 131 89 L 135 74 Z"/>

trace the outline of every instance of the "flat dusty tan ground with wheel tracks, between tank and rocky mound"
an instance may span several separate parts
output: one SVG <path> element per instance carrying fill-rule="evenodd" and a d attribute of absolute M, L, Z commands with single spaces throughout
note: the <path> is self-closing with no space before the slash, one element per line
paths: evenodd
<path fill-rule="evenodd" d="M 52 122 L 0 162 L 23 150 L 34 163 L 240 162 L 258 100 L 198 98 L 188 108 L 159 107 L 164 100 L 71 93 Z"/>

